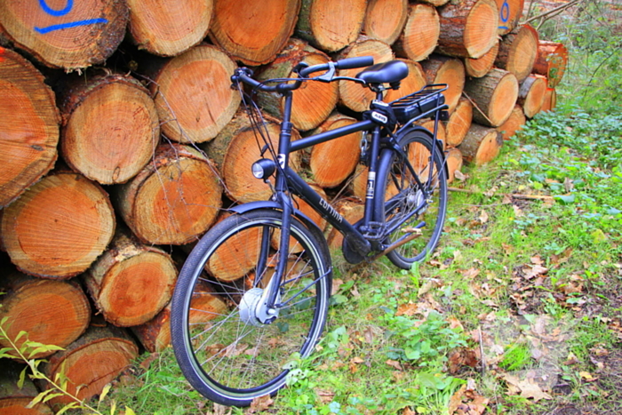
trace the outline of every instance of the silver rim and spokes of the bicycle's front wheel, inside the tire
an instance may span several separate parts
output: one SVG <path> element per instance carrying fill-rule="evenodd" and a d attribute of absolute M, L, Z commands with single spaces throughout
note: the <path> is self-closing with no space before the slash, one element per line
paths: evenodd
<path fill-rule="evenodd" d="M 259 323 L 257 314 L 263 286 L 269 281 L 269 272 L 275 267 L 278 255 L 270 245 L 275 244 L 275 231 L 280 225 L 277 219 L 258 219 L 248 221 L 243 231 L 261 227 L 261 238 L 258 243 L 245 246 L 249 252 L 239 251 L 235 246 L 236 261 L 248 259 L 252 255 L 259 258 L 261 247 L 268 248 L 268 258 L 264 272 L 257 269 L 246 272 L 235 281 L 220 281 L 211 270 L 210 259 L 216 258 L 223 249 L 232 249 L 224 241 L 231 241 L 232 235 L 223 235 L 219 241 L 203 256 L 202 264 L 208 264 L 211 272 L 195 275 L 196 283 L 193 292 L 201 290 L 201 284 L 208 280 L 224 297 L 227 303 L 226 312 L 211 313 L 190 307 L 187 315 L 187 351 L 192 356 L 192 365 L 197 375 L 211 389 L 231 398 L 249 399 L 254 396 L 267 395 L 282 387 L 287 375 L 283 366 L 300 354 L 311 353 L 315 342 L 322 331 L 323 318 L 319 314 L 326 308 L 324 296 L 315 296 L 316 291 L 326 290 L 325 278 L 319 274 L 322 267 L 317 264 L 319 252 L 303 233 L 292 228 L 290 251 L 302 252 L 287 255 L 288 267 L 283 284 L 282 304 L 277 317 L 272 323 Z M 272 243 L 266 243 L 270 237 Z M 245 238 L 247 239 L 247 238 Z M 263 241 L 264 243 L 261 243 Z M 255 252 L 252 252 L 255 251 Z M 259 259 L 258 259 L 259 261 Z M 243 267 L 240 267 L 243 268 Z M 258 274 L 260 276 L 258 276 Z M 314 280 L 319 281 L 315 284 Z M 304 290 L 309 284 L 314 290 Z M 297 297 L 292 298 L 297 295 Z M 209 318 L 197 321 L 193 315 L 205 313 Z"/>

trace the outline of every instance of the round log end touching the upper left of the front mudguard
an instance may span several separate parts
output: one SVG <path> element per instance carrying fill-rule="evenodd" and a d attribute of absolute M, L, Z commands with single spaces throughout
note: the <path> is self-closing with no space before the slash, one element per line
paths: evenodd
<path fill-rule="evenodd" d="M 216 219 L 222 186 L 198 150 L 162 144 L 152 163 L 116 188 L 119 215 L 143 243 L 179 245 L 195 240 Z"/>

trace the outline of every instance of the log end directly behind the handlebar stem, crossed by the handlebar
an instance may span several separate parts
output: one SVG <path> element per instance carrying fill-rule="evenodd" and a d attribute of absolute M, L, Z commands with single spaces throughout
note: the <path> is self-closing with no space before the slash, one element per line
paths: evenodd
<path fill-rule="evenodd" d="M 309 65 L 331 60 L 326 54 L 307 43 L 292 38 L 276 59 L 256 77 L 258 81 L 272 78 L 297 77 L 293 68 L 301 61 Z M 322 124 L 337 105 L 339 91 L 337 83 L 306 82 L 295 92 L 291 106 L 291 122 L 299 131 L 314 129 Z M 260 92 L 259 105 L 267 113 L 283 117 L 285 99 L 276 92 Z"/>

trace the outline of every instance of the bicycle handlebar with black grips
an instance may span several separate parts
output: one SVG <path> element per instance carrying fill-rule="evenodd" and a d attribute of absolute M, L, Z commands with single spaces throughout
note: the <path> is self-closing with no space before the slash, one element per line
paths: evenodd
<path fill-rule="evenodd" d="M 294 82 L 291 84 L 281 83 L 275 85 L 266 85 L 262 84 L 259 81 L 254 80 L 252 76 L 252 71 L 249 68 L 238 68 L 235 70 L 235 74 L 231 76 L 231 82 L 233 84 L 237 84 L 239 82 L 243 82 L 244 84 L 250 85 L 253 89 L 262 91 L 262 92 L 288 92 L 296 90 L 302 84 L 304 79 L 307 79 L 307 76 L 320 71 L 326 71 L 322 76 L 317 76 L 315 79 L 323 82 L 331 82 L 333 76 L 335 75 L 336 69 L 354 69 L 354 68 L 365 68 L 373 65 L 373 57 L 371 56 L 359 56 L 355 58 L 346 58 L 343 60 L 337 60 L 335 62 L 327 62 L 321 63 L 318 65 L 308 66 L 305 62 L 300 62 L 296 68 L 294 68 L 294 72 L 298 73 L 300 78 L 297 80 L 296 78 L 291 78 Z"/>

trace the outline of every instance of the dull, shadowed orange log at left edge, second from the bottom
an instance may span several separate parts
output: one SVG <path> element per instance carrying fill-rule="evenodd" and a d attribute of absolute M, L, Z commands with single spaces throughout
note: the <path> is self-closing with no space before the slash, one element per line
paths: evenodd
<path fill-rule="evenodd" d="M 4 276 L 0 290 L 5 292 L 0 319 L 8 317 L 10 339 L 26 331 L 30 341 L 67 347 L 84 333 L 91 320 L 89 300 L 77 283 L 12 272 Z M 18 341 L 18 347 L 24 341 L 26 337 Z M 0 347 L 9 345 L 0 340 Z M 32 358 L 40 359 L 52 353 L 41 352 Z"/>

